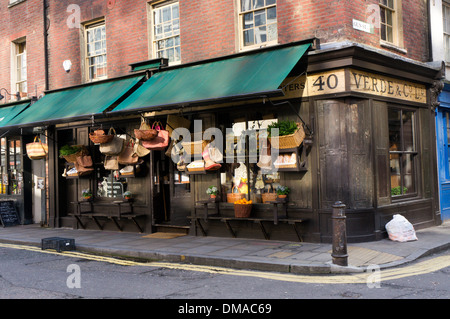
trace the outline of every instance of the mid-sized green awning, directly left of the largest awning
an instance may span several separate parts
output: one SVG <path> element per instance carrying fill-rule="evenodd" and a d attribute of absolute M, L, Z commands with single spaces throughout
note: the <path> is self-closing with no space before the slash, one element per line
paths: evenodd
<path fill-rule="evenodd" d="M 48 92 L 4 126 L 48 125 L 88 119 L 120 102 L 142 74 Z"/>

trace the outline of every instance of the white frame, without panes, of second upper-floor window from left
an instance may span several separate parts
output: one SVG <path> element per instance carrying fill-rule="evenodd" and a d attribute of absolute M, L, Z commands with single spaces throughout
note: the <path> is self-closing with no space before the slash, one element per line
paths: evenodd
<path fill-rule="evenodd" d="M 84 32 L 84 78 L 86 82 L 95 82 L 103 79 L 108 78 L 108 51 L 107 51 L 107 43 L 106 43 L 106 23 L 105 20 L 99 20 L 93 23 L 85 24 L 83 28 Z M 102 38 L 99 41 L 94 42 L 100 42 L 100 52 L 90 54 L 88 50 L 88 46 L 92 43 L 89 42 L 89 32 L 92 32 L 94 30 L 100 29 L 100 32 L 102 32 L 102 29 L 104 29 L 104 38 Z M 94 44 L 95 45 L 95 44 Z M 91 59 L 99 59 L 102 57 L 102 62 L 94 62 L 91 63 Z M 91 77 L 90 67 L 91 66 L 103 66 L 105 68 L 105 74 Z"/>

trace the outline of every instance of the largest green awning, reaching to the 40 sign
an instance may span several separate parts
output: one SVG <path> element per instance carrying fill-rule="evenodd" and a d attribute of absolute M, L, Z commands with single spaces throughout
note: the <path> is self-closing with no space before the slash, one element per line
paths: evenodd
<path fill-rule="evenodd" d="M 282 95 L 280 84 L 310 44 L 250 52 L 155 73 L 111 113 L 199 102 Z"/>

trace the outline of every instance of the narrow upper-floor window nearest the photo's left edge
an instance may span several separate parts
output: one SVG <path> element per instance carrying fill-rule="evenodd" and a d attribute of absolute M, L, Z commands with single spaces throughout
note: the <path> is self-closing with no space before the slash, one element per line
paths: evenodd
<path fill-rule="evenodd" d="M 27 88 L 27 44 L 25 41 L 13 42 L 12 88 L 21 96 L 26 96 Z"/>

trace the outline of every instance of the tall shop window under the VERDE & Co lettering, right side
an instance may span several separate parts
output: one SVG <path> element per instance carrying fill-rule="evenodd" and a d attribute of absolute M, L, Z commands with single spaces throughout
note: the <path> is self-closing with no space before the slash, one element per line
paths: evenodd
<path fill-rule="evenodd" d="M 388 117 L 391 196 L 416 194 L 416 114 L 406 109 L 390 108 Z"/>

